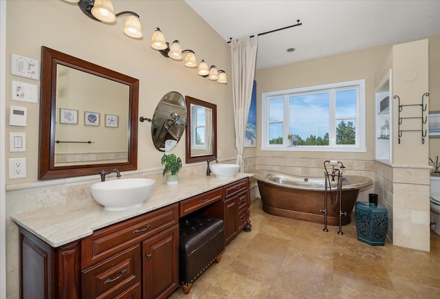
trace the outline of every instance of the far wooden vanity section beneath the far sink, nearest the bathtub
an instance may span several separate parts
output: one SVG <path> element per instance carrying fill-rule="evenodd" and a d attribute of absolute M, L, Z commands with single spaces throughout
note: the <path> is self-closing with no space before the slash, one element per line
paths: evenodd
<path fill-rule="evenodd" d="M 224 192 L 223 221 L 225 221 L 225 243 L 228 244 L 243 228 L 250 226 L 249 179 L 241 179 L 225 186 Z"/>

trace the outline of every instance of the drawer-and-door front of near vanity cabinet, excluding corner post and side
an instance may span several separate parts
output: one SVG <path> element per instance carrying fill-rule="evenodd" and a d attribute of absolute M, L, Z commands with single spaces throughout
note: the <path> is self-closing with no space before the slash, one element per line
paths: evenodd
<path fill-rule="evenodd" d="M 138 282 L 141 288 L 131 292 L 135 297 L 141 289 L 145 299 L 173 293 L 178 287 L 178 207 L 148 212 L 83 239 L 83 298 L 114 298 Z"/>

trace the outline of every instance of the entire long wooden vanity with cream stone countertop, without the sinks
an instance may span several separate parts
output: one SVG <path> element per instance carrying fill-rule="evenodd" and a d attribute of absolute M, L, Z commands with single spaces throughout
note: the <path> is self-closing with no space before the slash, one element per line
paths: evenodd
<path fill-rule="evenodd" d="M 250 230 L 250 176 L 158 185 L 144 206 L 123 212 L 87 201 L 12 217 L 21 298 L 166 298 L 179 287 L 179 218 L 223 219 L 230 242 Z"/>

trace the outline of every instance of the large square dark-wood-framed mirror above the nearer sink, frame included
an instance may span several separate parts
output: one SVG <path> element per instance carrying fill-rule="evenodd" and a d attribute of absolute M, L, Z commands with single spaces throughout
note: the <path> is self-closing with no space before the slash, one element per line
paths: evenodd
<path fill-rule="evenodd" d="M 139 80 L 41 47 L 39 179 L 137 169 Z"/>

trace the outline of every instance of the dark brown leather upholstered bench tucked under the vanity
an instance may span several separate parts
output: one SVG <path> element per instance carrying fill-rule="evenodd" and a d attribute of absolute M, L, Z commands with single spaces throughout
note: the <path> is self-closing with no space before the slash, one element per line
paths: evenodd
<path fill-rule="evenodd" d="M 192 283 L 225 251 L 225 225 L 221 219 L 196 215 L 179 223 L 179 281 L 185 294 Z"/>

